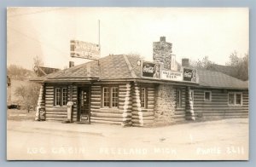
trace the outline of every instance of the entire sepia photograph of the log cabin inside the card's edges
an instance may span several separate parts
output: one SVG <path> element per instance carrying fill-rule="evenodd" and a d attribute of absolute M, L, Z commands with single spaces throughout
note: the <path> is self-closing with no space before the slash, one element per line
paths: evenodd
<path fill-rule="evenodd" d="M 249 9 L 7 8 L 7 160 L 249 160 Z"/>

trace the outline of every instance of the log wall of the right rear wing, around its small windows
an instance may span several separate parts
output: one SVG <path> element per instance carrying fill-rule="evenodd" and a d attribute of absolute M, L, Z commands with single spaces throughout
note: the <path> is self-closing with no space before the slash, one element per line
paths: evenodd
<path fill-rule="evenodd" d="M 204 91 L 212 92 L 212 101 L 204 101 Z M 242 106 L 230 106 L 228 104 L 229 92 L 242 93 Z M 248 91 L 194 88 L 194 111 L 195 116 L 201 119 L 247 118 Z"/>

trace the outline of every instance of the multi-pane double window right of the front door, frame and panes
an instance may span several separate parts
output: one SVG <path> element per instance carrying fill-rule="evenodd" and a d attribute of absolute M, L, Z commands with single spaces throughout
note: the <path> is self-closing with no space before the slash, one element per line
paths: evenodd
<path fill-rule="evenodd" d="M 103 87 L 102 107 L 118 107 L 119 106 L 119 88 Z"/>

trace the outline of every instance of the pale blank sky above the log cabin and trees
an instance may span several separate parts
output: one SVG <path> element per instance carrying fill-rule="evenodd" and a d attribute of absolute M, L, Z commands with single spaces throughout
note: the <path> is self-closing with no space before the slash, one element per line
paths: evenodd
<path fill-rule="evenodd" d="M 70 60 L 87 62 L 70 57 L 70 40 L 100 42 L 101 57 L 137 54 L 153 60 L 153 42 L 161 36 L 172 43 L 179 63 L 208 56 L 225 65 L 235 50 L 240 56 L 249 51 L 248 9 L 9 8 L 7 65 L 32 69 L 36 56 L 44 66 L 61 69 Z"/>

